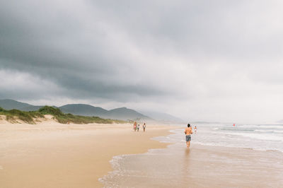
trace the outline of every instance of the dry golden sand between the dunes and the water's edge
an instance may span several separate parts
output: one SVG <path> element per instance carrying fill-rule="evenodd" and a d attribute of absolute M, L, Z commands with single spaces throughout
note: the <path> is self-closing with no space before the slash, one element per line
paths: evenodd
<path fill-rule="evenodd" d="M 102 187 L 114 155 L 164 148 L 154 136 L 171 127 L 148 124 L 0 124 L 0 187 Z"/>

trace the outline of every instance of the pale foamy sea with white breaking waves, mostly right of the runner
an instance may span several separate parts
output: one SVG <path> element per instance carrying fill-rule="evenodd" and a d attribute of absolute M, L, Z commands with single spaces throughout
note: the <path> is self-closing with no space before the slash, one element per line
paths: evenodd
<path fill-rule="evenodd" d="M 173 132 L 172 141 L 181 142 L 182 131 Z M 200 124 L 192 143 L 283 152 L 283 124 Z"/>

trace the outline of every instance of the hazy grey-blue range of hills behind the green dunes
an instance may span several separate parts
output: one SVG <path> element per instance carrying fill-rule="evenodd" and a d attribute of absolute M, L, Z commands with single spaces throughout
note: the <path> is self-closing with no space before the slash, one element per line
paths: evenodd
<path fill-rule="evenodd" d="M 16 100 L 4 99 L 0 100 L 0 107 L 6 110 L 22 110 L 22 111 L 36 111 L 43 106 L 29 105 L 28 103 L 18 102 Z M 54 106 L 53 106 L 54 107 Z M 102 107 L 94 107 L 92 105 L 85 104 L 69 104 L 58 107 L 64 113 L 83 115 L 83 116 L 97 116 L 109 119 L 121 119 L 121 120 L 154 120 L 145 116 L 135 110 L 128 109 L 126 107 L 120 107 L 113 110 L 105 110 Z"/>

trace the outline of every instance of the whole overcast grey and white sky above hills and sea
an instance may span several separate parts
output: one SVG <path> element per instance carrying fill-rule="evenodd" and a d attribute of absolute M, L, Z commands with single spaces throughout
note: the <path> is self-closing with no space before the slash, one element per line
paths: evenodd
<path fill-rule="evenodd" d="M 0 1 L 0 98 L 283 119 L 283 1 Z"/>

